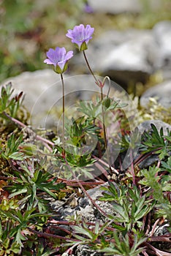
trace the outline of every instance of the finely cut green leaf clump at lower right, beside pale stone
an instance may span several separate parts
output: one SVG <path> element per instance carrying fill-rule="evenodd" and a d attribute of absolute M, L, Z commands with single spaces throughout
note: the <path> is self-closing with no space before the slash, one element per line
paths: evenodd
<path fill-rule="evenodd" d="M 110 215 L 114 222 L 122 224 L 123 229 L 129 231 L 134 227 L 141 227 L 142 217 L 148 214 L 155 206 L 155 201 L 148 195 L 140 195 L 136 188 L 127 188 L 110 182 L 110 187 L 104 187 L 103 197 L 99 200 L 112 201 L 115 215 Z"/>

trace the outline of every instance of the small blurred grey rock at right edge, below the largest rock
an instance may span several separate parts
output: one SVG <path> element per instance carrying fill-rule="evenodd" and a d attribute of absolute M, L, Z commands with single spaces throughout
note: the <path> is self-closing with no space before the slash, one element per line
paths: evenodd
<path fill-rule="evenodd" d="M 165 108 L 171 108 L 171 80 L 151 87 L 140 97 L 140 105 L 148 108 L 150 98 L 155 98 Z"/>

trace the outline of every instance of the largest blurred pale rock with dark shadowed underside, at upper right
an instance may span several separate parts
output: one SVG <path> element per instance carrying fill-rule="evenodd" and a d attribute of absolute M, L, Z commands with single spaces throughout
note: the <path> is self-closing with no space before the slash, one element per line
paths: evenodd
<path fill-rule="evenodd" d="M 86 55 L 94 72 L 108 75 L 121 86 L 145 81 L 161 70 L 171 78 L 171 21 L 150 30 L 106 31 L 89 43 Z M 82 54 L 72 59 L 75 69 L 88 73 Z"/>

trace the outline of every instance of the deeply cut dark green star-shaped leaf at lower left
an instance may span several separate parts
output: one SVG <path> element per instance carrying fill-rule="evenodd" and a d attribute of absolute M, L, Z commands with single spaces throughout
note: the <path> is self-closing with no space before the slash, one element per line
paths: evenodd
<path fill-rule="evenodd" d="M 42 192 L 56 199 L 55 192 L 64 188 L 65 184 L 56 183 L 57 178 L 41 170 L 42 166 L 38 162 L 34 165 L 33 161 L 26 159 L 20 163 L 20 170 L 13 170 L 9 174 L 14 180 L 6 189 L 10 192 L 9 198 L 22 196 L 18 202 L 22 208 L 26 205 L 34 206 L 36 203 L 41 212 L 47 210 L 47 200 L 42 199 Z"/>

